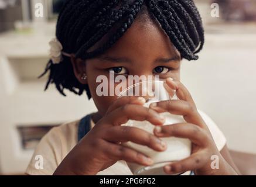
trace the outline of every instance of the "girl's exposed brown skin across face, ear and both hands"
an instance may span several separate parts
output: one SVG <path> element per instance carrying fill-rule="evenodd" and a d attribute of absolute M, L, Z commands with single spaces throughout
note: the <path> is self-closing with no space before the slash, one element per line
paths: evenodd
<path fill-rule="evenodd" d="M 107 58 L 108 57 L 108 58 Z M 134 22 L 131 28 L 103 55 L 92 60 L 72 57 L 74 73 L 82 84 L 88 84 L 92 98 L 98 108 L 94 113 L 93 129 L 77 144 L 62 161 L 54 175 L 95 175 L 118 160 L 151 165 L 151 158 L 119 143 L 133 141 L 156 151 L 166 150 L 166 144 L 159 137 L 183 137 L 192 141 L 192 155 L 185 160 L 167 165 L 168 174 L 193 170 L 196 175 L 237 175 L 238 170 L 231 160 L 227 146 L 219 151 L 206 123 L 199 115 L 192 96 L 180 80 L 180 54 L 173 47 L 161 27 L 147 20 L 144 25 Z M 149 109 L 142 106 L 144 98 L 97 96 L 98 75 L 109 77 L 109 70 L 123 67 L 119 74 L 160 75 L 166 79 L 170 89 L 176 89 L 180 100 L 163 101 Z M 165 67 L 161 72 L 156 67 Z M 81 76 L 86 72 L 87 79 Z M 118 72 L 118 71 L 117 71 Z M 168 79 L 172 77 L 175 79 Z M 168 111 L 183 115 L 186 123 L 162 126 L 164 119 L 159 113 Z M 133 120 L 148 120 L 156 126 L 154 134 L 121 124 Z M 157 133 L 157 130 L 160 132 Z M 211 155 L 218 155 L 220 168 L 211 169 Z"/>

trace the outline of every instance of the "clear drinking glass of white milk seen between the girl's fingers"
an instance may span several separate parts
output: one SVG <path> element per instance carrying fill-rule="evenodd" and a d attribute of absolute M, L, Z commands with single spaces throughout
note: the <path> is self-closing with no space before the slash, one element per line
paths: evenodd
<path fill-rule="evenodd" d="M 168 89 L 168 86 L 164 81 L 144 81 L 138 84 L 129 86 L 125 91 L 122 91 L 119 98 L 122 96 L 143 96 L 146 99 L 145 107 L 153 102 L 166 101 L 172 99 L 178 99 L 175 91 Z M 172 115 L 169 112 L 161 113 L 165 117 L 165 123 L 163 125 L 183 123 L 185 120 L 183 116 Z M 143 129 L 153 134 L 153 129 L 155 125 L 149 123 L 148 121 L 136 121 L 129 120 L 127 123 L 122 124 L 122 126 L 131 126 Z M 167 144 L 167 149 L 165 151 L 155 151 L 147 146 L 142 146 L 140 144 L 132 143 L 128 141 L 123 143 L 124 146 L 133 148 L 145 155 L 148 155 L 154 161 L 153 165 L 145 166 L 135 163 L 127 162 L 128 167 L 131 169 L 134 175 L 167 175 L 163 171 L 163 167 L 168 165 L 170 162 L 179 161 L 187 158 L 191 154 L 192 144 L 191 141 L 186 138 L 177 137 L 164 137 L 161 138 Z M 180 175 L 180 174 L 175 174 Z"/>

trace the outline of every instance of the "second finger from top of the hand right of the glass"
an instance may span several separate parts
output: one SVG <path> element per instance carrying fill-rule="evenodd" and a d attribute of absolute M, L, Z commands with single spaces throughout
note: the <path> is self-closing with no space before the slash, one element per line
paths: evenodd
<path fill-rule="evenodd" d="M 189 102 L 183 100 L 167 100 L 151 103 L 149 108 L 155 110 L 156 112 L 169 112 L 173 115 L 182 115 L 187 123 L 194 123 L 199 125 L 202 128 L 205 128 L 206 125 L 199 112 L 194 106 Z"/>

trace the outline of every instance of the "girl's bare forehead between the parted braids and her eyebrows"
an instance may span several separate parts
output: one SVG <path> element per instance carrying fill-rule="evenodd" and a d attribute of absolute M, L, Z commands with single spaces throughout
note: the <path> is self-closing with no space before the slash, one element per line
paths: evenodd
<path fill-rule="evenodd" d="M 134 22 L 125 34 L 106 53 L 179 55 L 168 35 L 156 23 Z"/>

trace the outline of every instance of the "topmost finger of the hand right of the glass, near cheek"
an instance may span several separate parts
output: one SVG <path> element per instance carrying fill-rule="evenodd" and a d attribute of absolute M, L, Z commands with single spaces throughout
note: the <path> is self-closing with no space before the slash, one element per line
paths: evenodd
<path fill-rule="evenodd" d="M 166 84 L 170 88 L 176 90 L 176 95 L 178 96 L 179 99 L 190 102 L 193 106 L 196 106 L 193 101 L 192 95 L 180 81 L 173 80 L 172 78 L 168 78 L 166 79 Z"/>

